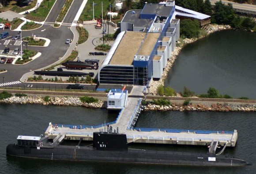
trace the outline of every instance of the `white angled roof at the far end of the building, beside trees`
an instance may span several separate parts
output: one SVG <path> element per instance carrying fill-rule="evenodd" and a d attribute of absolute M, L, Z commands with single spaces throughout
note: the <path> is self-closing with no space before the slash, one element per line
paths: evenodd
<path fill-rule="evenodd" d="M 177 5 L 175 5 L 175 10 L 184 11 L 185 13 L 175 11 L 174 15 L 187 16 L 187 17 L 192 17 L 192 18 L 196 18 L 196 19 L 200 19 L 200 20 L 211 17 L 209 15 L 204 15 L 203 13 L 192 11 L 192 10 L 189 10 L 187 8 L 183 8 L 183 7 L 180 7 L 180 6 L 177 6 Z"/>

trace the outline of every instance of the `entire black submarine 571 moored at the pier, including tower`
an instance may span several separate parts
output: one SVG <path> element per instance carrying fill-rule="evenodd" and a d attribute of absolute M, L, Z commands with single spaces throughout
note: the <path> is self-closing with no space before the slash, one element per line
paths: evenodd
<path fill-rule="evenodd" d="M 93 161 L 113 163 L 144 163 L 162 165 L 242 167 L 249 165 L 242 159 L 202 154 L 196 152 L 170 152 L 161 150 L 132 149 L 128 147 L 126 134 L 116 132 L 94 132 L 93 144 L 61 145 L 65 135 L 58 135 L 52 142 L 47 137 L 19 135 L 18 143 L 9 144 L 7 156 L 48 159 Z"/>

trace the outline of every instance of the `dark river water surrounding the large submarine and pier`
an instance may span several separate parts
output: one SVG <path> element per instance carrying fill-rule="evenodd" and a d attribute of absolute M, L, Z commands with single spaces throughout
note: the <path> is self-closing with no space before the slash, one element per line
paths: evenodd
<path fill-rule="evenodd" d="M 48 161 L 38 159 L 10 158 L 5 148 L 15 143 L 18 134 L 40 135 L 49 122 L 64 124 L 97 125 L 104 121 L 115 120 L 117 115 L 108 115 L 105 109 L 85 109 L 71 106 L 44 105 L 0 105 L 1 139 L 0 173 L 13 174 L 197 174 L 202 170 L 215 173 L 256 173 L 256 166 L 242 168 L 225 167 L 183 167 L 147 164 L 93 163 Z M 226 149 L 225 155 L 236 156 L 250 163 L 256 163 L 255 112 L 143 112 L 137 127 L 200 129 L 200 130 L 238 130 L 238 142 L 235 148 Z M 145 147 L 144 145 L 133 145 Z M 206 151 L 200 147 L 173 147 L 171 145 L 147 145 L 157 149 L 192 149 Z"/>

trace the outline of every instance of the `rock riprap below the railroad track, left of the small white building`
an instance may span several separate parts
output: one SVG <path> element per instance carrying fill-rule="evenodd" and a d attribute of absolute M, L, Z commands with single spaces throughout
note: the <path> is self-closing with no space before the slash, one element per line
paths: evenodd
<path fill-rule="evenodd" d="M 40 105 L 64 105 L 64 106 L 83 106 L 87 108 L 106 108 L 106 103 L 99 100 L 95 103 L 83 103 L 78 97 L 50 97 L 49 101 L 44 101 L 41 96 L 5 98 L 0 101 L 7 104 L 40 104 Z"/>

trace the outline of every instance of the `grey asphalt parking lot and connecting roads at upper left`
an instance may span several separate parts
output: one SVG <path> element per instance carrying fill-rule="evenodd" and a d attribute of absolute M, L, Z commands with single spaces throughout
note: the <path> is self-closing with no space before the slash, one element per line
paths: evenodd
<path fill-rule="evenodd" d="M 53 6 L 53 9 L 51 10 L 49 17 L 46 19 L 48 22 L 55 22 L 57 15 L 59 14 L 61 8 L 63 7 L 63 0 L 56 0 L 56 3 Z M 79 9 L 81 6 L 82 0 L 79 0 L 79 3 L 73 3 L 72 7 L 73 9 Z M 72 15 L 73 20 L 75 18 L 74 15 Z M 64 19 L 65 20 L 65 19 Z M 72 19 L 69 18 L 68 22 L 70 22 Z M 71 22 L 72 23 L 72 22 Z M 14 41 L 11 41 L 11 36 L 17 35 L 17 31 L 11 31 L 10 29 L 4 29 L 4 31 L 8 31 L 10 33 L 10 36 L 8 38 L 5 38 L 4 40 L 1 40 L 0 43 L 0 51 L 4 50 L 5 47 L 10 47 L 10 50 L 13 51 L 15 47 L 18 45 L 13 46 L 15 43 Z M 41 56 L 39 58 L 36 58 L 35 60 L 24 64 L 24 65 L 12 65 L 12 64 L 0 64 L 0 69 L 6 69 L 8 72 L 0 73 L 0 80 L 3 80 L 3 83 L 10 82 L 11 85 L 8 85 L 8 87 L 31 87 L 33 85 L 34 87 L 38 85 L 38 88 L 46 86 L 46 84 L 38 84 L 38 83 L 12 83 L 12 82 L 19 82 L 23 74 L 34 71 L 37 69 L 41 69 L 43 67 L 46 67 L 48 65 L 51 65 L 58 61 L 60 58 L 62 58 L 66 52 L 69 49 L 69 46 L 65 44 L 65 40 L 67 38 L 74 38 L 74 34 L 70 30 L 70 26 L 62 25 L 60 28 L 53 28 L 49 24 L 43 25 L 41 28 L 32 30 L 32 31 L 23 31 L 22 37 L 24 36 L 32 36 L 32 34 L 36 35 L 37 37 L 45 37 L 51 40 L 48 47 L 30 47 L 28 46 L 28 49 L 32 49 L 34 51 L 41 52 Z M 4 43 L 8 44 L 4 45 Z M 18 43 L 17 43 L 18 44 Z M 19 46 L 18 46 L 19 47 Z M 23 43 L 23 49 L 26 48 L 26 45 Z M 10 54 L 12 53 L 10 51 Z M 2 83 L 2 81 L 1 81 Z M 45 85 L 45 86 L 43 86 Z M 47 84 L 47 88 L 55 88 L 56 84 Z M 63 85 L 57 85 L 59 88 L 61 86 L 66 87 L 66 84 Z"/>

